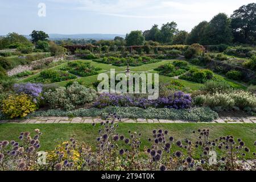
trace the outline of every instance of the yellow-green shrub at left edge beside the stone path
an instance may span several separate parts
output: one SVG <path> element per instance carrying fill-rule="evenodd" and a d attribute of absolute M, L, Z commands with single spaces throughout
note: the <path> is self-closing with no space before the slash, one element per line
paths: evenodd
<path fill-rule="evenodd" d="M 36 109 L 38 109 L 36 104 L 27 94 L 21 94 L 19 96 L 10 95 L 1 104 L 3 114 L 10 118 L 26 117 L 28 113 L 32 113 Z"/>

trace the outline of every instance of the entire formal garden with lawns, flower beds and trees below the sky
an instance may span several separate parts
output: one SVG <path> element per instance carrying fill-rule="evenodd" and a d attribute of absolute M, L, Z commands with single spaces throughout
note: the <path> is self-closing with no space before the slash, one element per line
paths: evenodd
<path fill-rule="evenodd" d="M 0 37 L 0 171 L 255 171 L 255 40 L 213 40 L 216 19 L 232 18 L 84 44 Z M 97 92 L 111 69 L 158 73 L 159 97 Z"/>

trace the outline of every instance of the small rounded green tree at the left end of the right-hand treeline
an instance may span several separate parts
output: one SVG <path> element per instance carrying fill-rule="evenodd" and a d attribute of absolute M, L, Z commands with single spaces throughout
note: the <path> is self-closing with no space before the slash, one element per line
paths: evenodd
<path fill-rule="evenodd" d="M 127 46 L 142 46 L 144 44 L 144 36 L 142 31 L 131 31 L 130 34 L 126 34 Z"/>

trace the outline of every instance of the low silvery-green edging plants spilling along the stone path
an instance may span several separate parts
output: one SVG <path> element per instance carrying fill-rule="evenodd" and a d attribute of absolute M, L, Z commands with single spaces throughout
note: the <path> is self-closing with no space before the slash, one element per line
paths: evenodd
<path fill-rule="evenodd" d="M 139 107 L 105 107 L 104 109 L 77 109 L 73 111 L 47 110 L 35 111 L 28 114 L 26 118 L 34 117 L 105 117 L 108 113 L 117 113 L 121 118 L 146 118 L 146 119 L 170 119 L 185 120 L 192 122 L 212 122 L 218 118 L 218 114 L 208 107 L 194 107 L 192 109 L 167 109 L 167 108 L 148 108 Z"/>

